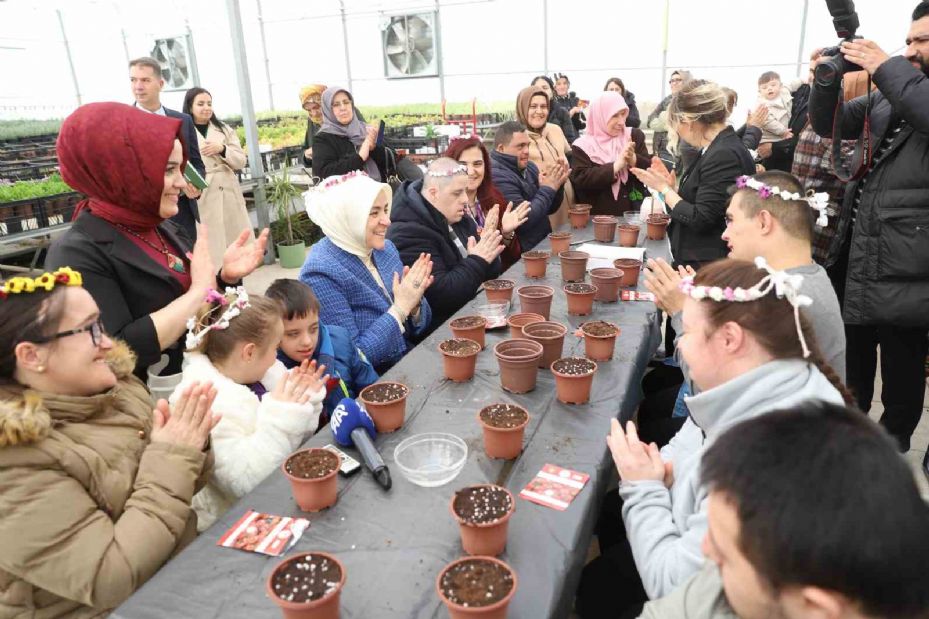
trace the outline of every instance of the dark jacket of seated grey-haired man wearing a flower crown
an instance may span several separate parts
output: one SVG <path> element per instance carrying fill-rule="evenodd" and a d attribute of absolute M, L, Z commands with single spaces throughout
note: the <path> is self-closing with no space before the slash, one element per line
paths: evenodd
<path fill-rule="evenodd" d="M 410 266 L 419 254 L 432 256 L 432 276 L 426 300 L 432 308 L 435 328 L 474 298 L 480 285 L 500 274 L 500 259 L 487 263 L 483 258 L 462 257 L 448 229 L 445 217 L 422 195 L 422 181 L 404 181 L 394 194 L 387 238 L 400 252 L 400 260 Z M 452 225 L 455 236 L 467 248 L 468 237 L 478 240 L 477 224 L 465 215 Z"/>

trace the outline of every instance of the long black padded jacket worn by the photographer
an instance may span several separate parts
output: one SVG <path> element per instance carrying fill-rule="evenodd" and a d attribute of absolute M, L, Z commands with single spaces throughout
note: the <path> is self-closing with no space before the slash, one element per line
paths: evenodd
<path fill-rule="evenodd" d="M 891 147 L 871 165 L 863 181 L 845 191 L 836 235 L 826 265 L 836 263 L 848 242 L 843 317 L 846 324 L 929 327 L 929 77 L 902 56 L 884 62 L 873 75 L 871 143 L 883 141 L 896 118 L 906 126 Z M 832 137 L 838 89 L 813 86 L 810 122 Z M 864 127 L 867 99 L 844 104 L 843 138 Z M 864 182 L 858 216 L 852 206 Z"/>

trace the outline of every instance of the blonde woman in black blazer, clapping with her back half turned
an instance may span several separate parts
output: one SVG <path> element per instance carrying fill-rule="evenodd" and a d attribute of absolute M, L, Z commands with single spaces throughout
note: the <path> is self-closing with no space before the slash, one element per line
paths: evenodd
<path fill-rule="evenodd" d="M 700 149 L 696 160 L 675 177 L 653 158 L 646 170 L 633 168 L 640 181 L 663 196 L 671 215 L 668 235 L 676 264 L 699 268 L 725 258 L 721 236 L 726 229 L 729 187 L 755 172 L 748 149 L 726 124 L 727 98 L 712 82 L 691 80 L 671 100 L 668 121 L 682 140 Z"/>

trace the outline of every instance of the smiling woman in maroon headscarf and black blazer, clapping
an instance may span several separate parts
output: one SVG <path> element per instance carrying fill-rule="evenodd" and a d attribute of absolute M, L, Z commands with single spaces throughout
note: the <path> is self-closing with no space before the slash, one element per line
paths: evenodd
<path fill-rule="evenodd" d="M 167 364 L 155 373 L 179 380 L 187 319 L 207 290 L 251 273 L 268 242 L 264 230 L 246 245 L 252 231 L 243 230 L 216 271 L 206 227 L 191 247 L 168 221 L 186 185 L 180 127 L 179 120 L 122 103 L 89 103 L 65 120 L 56 146 L 61 176 L 87 199 L 52 244 L 46 265 L 83 273 L 103 325 L 135 352 L 134 373 L 143 380 L 162 353 Z"/>

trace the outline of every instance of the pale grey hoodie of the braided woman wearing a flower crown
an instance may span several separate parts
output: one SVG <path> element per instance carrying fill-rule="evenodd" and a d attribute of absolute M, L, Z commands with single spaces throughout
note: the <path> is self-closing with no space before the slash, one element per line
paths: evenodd
<path fill-rule="evenodd" d="M 690 417 L 661 450 L 664 461 L 674 466 L 670 490 L 660 481 L 622 482 L 619 487 L 626 536 L 651 599 L 669 594 L 703 565 L 703 450 L 734 424 L 810 399 L 843 403 L 829 380 L 801 359 L 768 362 L 686 398 Z"/>

